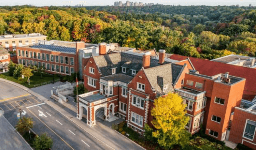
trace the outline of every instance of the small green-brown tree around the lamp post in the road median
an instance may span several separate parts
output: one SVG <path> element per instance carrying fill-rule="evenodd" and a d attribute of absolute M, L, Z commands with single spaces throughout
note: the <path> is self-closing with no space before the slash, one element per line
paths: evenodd
<path fill-rule="evenodd" d="M 22 119 L 19 119 L 16 125 L 17 131 L 20 133 L 25 133 L 33 127 L 33 123 L 32 118 L 22 117 Z"/>

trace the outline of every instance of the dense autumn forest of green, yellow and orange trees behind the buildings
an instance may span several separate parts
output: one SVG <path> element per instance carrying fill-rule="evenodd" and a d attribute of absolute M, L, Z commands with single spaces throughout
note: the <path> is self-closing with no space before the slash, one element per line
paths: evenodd
<path fill-rule="evenodd" d="M 0 6 L 0 35 L 33 32 L 203 59 L 256 56 L 253 6 Z"/>

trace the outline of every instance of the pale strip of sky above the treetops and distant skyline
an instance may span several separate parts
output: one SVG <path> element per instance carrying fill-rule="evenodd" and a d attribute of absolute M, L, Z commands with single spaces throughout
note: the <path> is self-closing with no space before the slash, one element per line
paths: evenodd
<path fill-rule="evenodd" d="M 77 5 L 83 4 L 84 6 L 103 6 L 103 5 L 114 5 L 115 1 L 120 0 L 11 0 L 11 1 L 4 1 L 0 3 L 0 6 L 9 5 L 25 5 L 25 4 L 32 4 L 35 6 L 63 6 L 63 5 Z M 126 0 L 121 0 L 123 3 Z M 130 0 L 135 2 L 136 0 Z M 252 4 L 256 6 L 256 0 L 137 0 L 137 2 L 144 3 L 159 3 L 164 5 L 209 5 L 209 6 L 217 6 L 217 5 L 237 5 L 240 6 L 249 6 Z"/>

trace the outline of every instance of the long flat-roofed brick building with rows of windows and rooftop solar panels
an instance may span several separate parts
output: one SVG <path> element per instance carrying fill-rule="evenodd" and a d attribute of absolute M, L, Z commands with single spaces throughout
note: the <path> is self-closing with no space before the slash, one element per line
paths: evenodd
<path fill-rule="evenodd" d="M 116 43 L 89 44 L 68 41 L 40 41 L 30 45 L 17 46 L 17 62 L 24 66 L 43 66 L 47 73 L 71 75 L 80 72 L 91 55 L 99 55 L 99 46 L 105 46 L 106 52 L 134 51 L 135 48 L 119 47 Z"/>

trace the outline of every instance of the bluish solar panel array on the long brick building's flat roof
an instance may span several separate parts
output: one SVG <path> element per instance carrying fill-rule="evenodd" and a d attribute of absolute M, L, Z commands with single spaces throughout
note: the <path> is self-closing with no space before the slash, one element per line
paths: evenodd
<path fill-rule="evenodd" d="M 33 45 L 31 46 L 32 48 L 42 48 L 42 49 L 49 49 L 53 51 L 61 51 L 61 52 L 69 52 L 69 53 L 74 53 L 76 52 L 75 48 L 72 47 L 63 47 L 63 46 L 55 46 L 55 45 L 44 45 L 44 44 L 39 44 L 39 45 Z"/>

